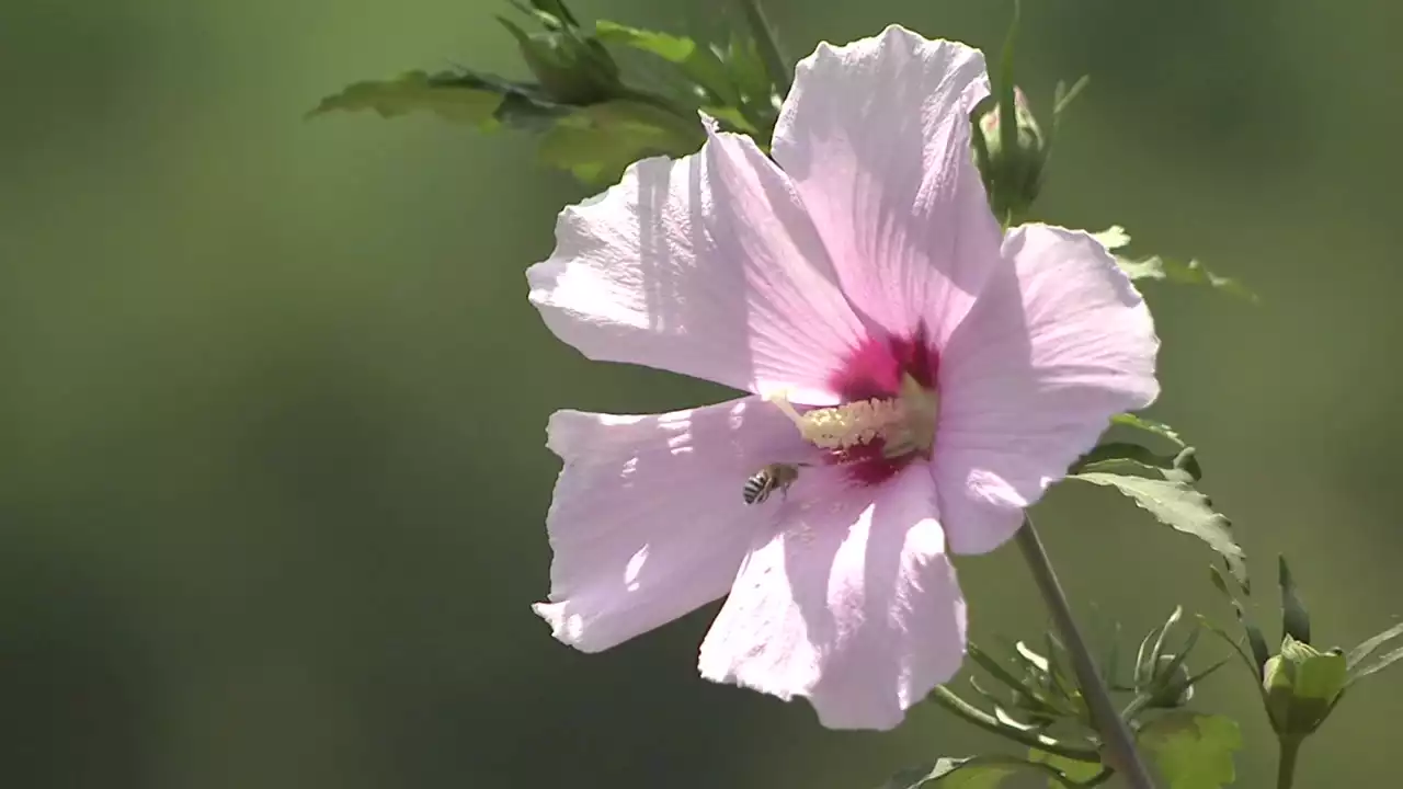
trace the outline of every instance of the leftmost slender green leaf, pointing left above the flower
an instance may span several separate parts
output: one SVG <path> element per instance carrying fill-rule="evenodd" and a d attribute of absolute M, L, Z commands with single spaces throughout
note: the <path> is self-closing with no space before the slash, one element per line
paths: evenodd
<path fill-rule="evenodd" d="M 491 87 L 464 84 L 455 74 L 429 76 L 408 72 L 394 80 L 365 80 L 352 83 L 341 93 L 328 95 L 307 115 L 321 115 L 335 110 L 372 110 L 382 118 L 396 118 L 410 112 L 432 112 L 446 121 L 490 126 L 502 104 L 502 93 Z"/>

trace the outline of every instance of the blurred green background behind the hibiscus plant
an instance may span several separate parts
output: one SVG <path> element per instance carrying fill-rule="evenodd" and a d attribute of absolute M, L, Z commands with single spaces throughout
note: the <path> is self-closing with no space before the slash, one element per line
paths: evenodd
<path fill-rule="evenodd" d="M 720 0 L 717 0 L 720 1 Z M 1164 396 L 1274 601 L 1324 642 L 1397 578 L 1395 3 L 1031 0 L 1034 101 L 1090 73 L 1040 208 L 1125 225 L 1263 298 L 1155 288 Z M 578 0 L 714 31 L 713 7 Z M 721 396 L 585 362 L 526 302 L 586 195 L 533 140 L 434 118 L 303 121 L 366 77 L 525 76 L 487 0 L 7 0 L 0 8 L 0 781 L 104 789 L 877 785 L 989 747 L 937 709 L 892 734 L 703 682 L 714 606 L 598 656 L 554 643 L 553 409 Z M 1007 3 L 772 0 L 793 55 L 899 21 L 996 48 Z M 1044 532 L 1086 622 L 1228 622 L 1209 555 L 1101 490 Z M 1044 618 L 1014 553 L 961 564 L 976 637 Z M 1204 650 L 1200 665 L 1221 649 Z M 1200 699 L 1274 747 L 1233 665 Z M 1350 698 L 1298 786 L 1396 783 L 1403 672 Z"/>

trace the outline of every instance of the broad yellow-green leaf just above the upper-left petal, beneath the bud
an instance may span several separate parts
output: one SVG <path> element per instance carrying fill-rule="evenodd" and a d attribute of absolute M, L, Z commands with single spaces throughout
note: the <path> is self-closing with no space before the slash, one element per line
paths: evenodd
<path fill-rule="evenodd" d="M 581 181 L 605 185 L 648 156 L 686 156 L 704 142 L 700 121 L 683 125 L 665 110 L 629 100 L 581 107 L 540 140 L 540 160 Z"/>

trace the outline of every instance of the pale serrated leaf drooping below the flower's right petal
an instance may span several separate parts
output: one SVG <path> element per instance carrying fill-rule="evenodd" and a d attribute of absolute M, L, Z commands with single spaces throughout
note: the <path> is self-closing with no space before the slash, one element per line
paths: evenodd
<path fill-rule="evenodd" d="M 1195 479 L 1190 460 L 1193 449 L 1184 449 L 1172 469 L 1142 465 L 1149 473 L 1162 479 L 1110 473 L 1099 470 L 1078 472 L 1068 479 L 1076 479 L 1104 487 L 1114 487 L 1128 496 L 1142 510 L 1149 511 L 1159 522 L 1188 533 L 1208 543 L 1228 560 L 1228 567 L 1239 584 L 1246 584 L 1246 555 L 1233 541 L 1232 521 L 1212 508 L 1212 500 L 1193 487 Z M 1188 466 L 1186 469 L 1186 466 Z"/>

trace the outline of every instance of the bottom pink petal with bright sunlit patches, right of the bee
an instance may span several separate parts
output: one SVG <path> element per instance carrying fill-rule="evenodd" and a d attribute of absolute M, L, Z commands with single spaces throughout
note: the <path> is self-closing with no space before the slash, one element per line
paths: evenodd
<path fill-rule="evenodd" d="M 916 465 L 875 498 L 828 490 L 746 557 L 702 644 L 702 675 L 808 696 L 829 729 L 892 729 L 964 658 L 934 484 Z"/>

